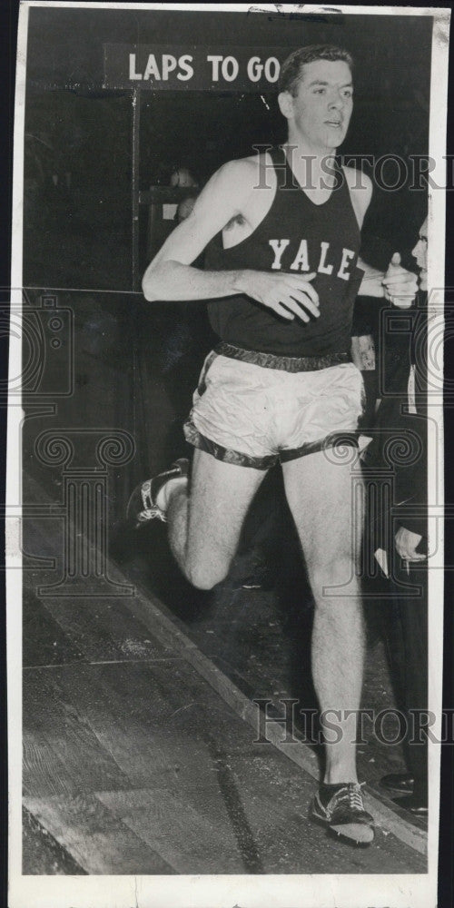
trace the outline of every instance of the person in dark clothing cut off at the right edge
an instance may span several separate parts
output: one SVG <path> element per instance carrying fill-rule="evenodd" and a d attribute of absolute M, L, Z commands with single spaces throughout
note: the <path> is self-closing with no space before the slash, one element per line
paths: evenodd
<path fill-rule="evenodd" d="M 388 376 L 365 458 L 365 471 L 380 482 L 379 520 L 371 528 L 376 558 L 389 579 L 391 620 L 390 664 L 397 686 L 404 727 L 406 770 L 385 775 L 381 785 L 413 814 L 428 809 L 428 528 L 426 380 L 419 357 L 425 340 L 427 303 L 426 222 L 413 250 L 420 276 L 412 331 L 400 341 L 400 360 Z M 418 339 L 415 335 L 418 331 Z M 415 342 L 418 340 L 418 342 Z M 392 342 L 391 342 L 392 345 Z M 385 377 L 386 379 L 386 377 Z M 385 381 L 386 383 L 386 381 Z M 418 393 L 419 392 L 419 393 Z M 384 487 L 387 487 L 385 494 Z"/>

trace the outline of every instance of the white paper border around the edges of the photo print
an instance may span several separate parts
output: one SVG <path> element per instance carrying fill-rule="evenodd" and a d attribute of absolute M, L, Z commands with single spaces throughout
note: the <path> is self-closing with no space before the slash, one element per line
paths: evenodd
<path fill-rule="evenodd" d="M 13 259 L 11 301 L 15 311 L 22 304 L 22 222 L 26 44 L 28 12 L 33 7 L 140 9 L 184 12 L 276 13 L 276 5 L 247 4 L 134 4 L 134 3 L 51 3 L 33 0 L 21 4 L 19 16 L 15 88 Z M 281 5 L 278 5 L 282 8 Z M 448 90 L 449 10 L 411 6 L 336 6 L 286 4 L 285 13 L 338 12 L 345 15 L 429 15 L 434 17 L 429 119 L 429 154 L 436 162 L 433 177 L 446 180 L 446 110 Z M 429 297 L 429 320 L 439 320 L 443 309 L 445 193 L 429 193 L 429 287 L 439 291 Z M 442 318 L 442 316 L 441 316 Z M 438 321 L 439 325 L 439 321 Z M 442 362 L 438 360 L 440 388 Z M 9 374 L 21 373 L 19 345 L 10 348 Z M 443 399 L 431 399 L 430 415 L 442 429 Z M 10 908 L 435 908 L 438 873 L 438 802 L 440 748 L 429 748 L 429 872 L 427 874 L 293 874 L 293 875 L 197 875 L 197 876 L 24 876 L 22 874 L 22 555 L 21 512 L 17 502 L 20 489 L 20 430 L 23 411 L 20 401 L 8 408 L 7 489 L 6 489 L 6 596 L 7 596 L 7 680 L 9 725 L 9 906 Z M 436 429 L 429 420 L 429 429 Z M 429 452 L 435 435 L 429 430 Z M 431 458 L 429 457 L 429 463 Z M 443 501 L 442 469 L 429 473 L 429 500 Z M 440 521 L 437 521 L 440 523 Z M 441 664 L 443 653 L 443 553 L 438 548 L 429 571 L 429 709 L 441 724 Z"/>

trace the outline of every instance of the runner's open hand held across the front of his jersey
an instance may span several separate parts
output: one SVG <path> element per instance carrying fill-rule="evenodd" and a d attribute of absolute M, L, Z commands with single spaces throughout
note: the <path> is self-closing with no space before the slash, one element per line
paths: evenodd
<path fill-rule="evenodd" d="M 296 275 L 269 271 L 243 271 L 239 289 L 262 302 L 263 306 L 291 321 L 311 321 L 311 315 L 318 319 L 320 315 L 319 294 L 311 285 L 316 272 Z M 309 314 L 308 314 L 309 313 Z"/>

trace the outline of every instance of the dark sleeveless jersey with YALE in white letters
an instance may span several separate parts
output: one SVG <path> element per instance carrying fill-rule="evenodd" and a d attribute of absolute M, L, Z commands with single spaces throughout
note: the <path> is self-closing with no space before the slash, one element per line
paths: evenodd
<path fill-rule="evenodd" d="M 209 302 L 212 328 L 222 341 L 281 356 L 350 350 L 353 304 L 363 271 L 357 268 L 360 229 L 344 173 L 336 168 L 336 187 L 327 202 L 316 205 L 296 182 L 283 149 L 273 149 L 271 159 L 277 188 L 270 211 L 250 236 L 230 249 L 222 247 L 222 232 L 213 237 L 204 267 L 301 275 L 316 271 L 311 284 L 319 294 L 320 317 L 288 321 L 238 294 Z"/>

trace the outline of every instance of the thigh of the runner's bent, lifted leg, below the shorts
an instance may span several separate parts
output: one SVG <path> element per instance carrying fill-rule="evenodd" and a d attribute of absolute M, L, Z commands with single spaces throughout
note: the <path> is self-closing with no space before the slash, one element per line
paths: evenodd
<path fill-rule="evenodd" d="M 191 562 L 229 562 L 242 523 L 265 470 L 225 463 L 195 449 L 189 499 L 188 556 Z"/>

